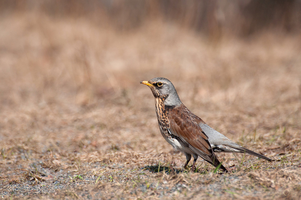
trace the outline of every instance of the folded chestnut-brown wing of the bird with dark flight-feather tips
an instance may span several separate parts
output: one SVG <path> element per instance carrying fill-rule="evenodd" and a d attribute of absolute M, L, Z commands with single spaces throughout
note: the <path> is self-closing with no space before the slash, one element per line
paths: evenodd
<path fill-rule="evenodd" d="M 213 166 L 217 167 L 220 164 L 211 148 L 208 137 L 198 125 L 198 123 L 203 123 L 203 120 L 194 115 L 184 105 L 169 110 L 168 119 L 171 134 Z M 221 166 L 221 168 L 225 167 Z"/>

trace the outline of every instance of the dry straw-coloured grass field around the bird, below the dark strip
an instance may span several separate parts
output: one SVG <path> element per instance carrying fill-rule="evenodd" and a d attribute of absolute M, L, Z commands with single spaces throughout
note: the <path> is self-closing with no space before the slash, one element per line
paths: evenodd
<path fill-rule="evenodd" d="M 146 24 L 120 33 L 85 18 L 1 17 L 0 197 L 300 199 L 300 35 L 208 39 Z M 201 158 L 196 173 L 183 170 L 139 84 L 154 77 L 171 80 L 209 126 L 275 161 L 220 153 L 229 174 Z"/>

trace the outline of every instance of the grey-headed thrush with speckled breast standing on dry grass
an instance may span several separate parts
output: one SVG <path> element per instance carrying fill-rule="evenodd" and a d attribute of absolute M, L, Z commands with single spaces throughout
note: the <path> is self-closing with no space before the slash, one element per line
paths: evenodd
<path fill-rule="evenodd" d="M 244 148 L 209 127 L 200 117 L 192 113 L 180 100 L 174 85 L 166 78 L 157 77 L 141 81 L 147 85 L 154 97 L 160 132 L 175 150 L 186 156 L 187 167 L 194 158 L 191 171 L 195 169 L 198 157 L 203 158 L 224 173 L 228 170 L 219 162 L 215 152 L 239 152 L 258 156 L 268 161 L 270 158 Z"/>

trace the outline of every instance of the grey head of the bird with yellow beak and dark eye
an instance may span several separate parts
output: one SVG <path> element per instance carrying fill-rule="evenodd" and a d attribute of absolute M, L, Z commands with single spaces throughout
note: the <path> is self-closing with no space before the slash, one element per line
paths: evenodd
<path fill-rule="evenodd" d="M 141 81 L 140 83 L 151 88 L 154 97 L 163 99 L 164 105 L 175 106 L 182 103 L 175 87 L 166 78 L 157 77 L 149 81 Z"/>

